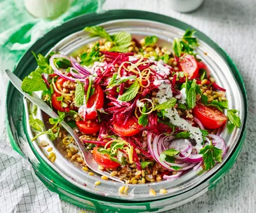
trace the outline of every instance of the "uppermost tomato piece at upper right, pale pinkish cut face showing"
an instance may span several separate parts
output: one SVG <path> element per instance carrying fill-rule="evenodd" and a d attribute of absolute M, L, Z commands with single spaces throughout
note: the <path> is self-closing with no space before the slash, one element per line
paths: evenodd
<path fill-rule="evenodd" d="M 180 69 L 182 69 L 184 73 L 189 74 L 189 79 L 198 78 L 198 64 L 193 55 L 187 54 L 181 57 Z"/>

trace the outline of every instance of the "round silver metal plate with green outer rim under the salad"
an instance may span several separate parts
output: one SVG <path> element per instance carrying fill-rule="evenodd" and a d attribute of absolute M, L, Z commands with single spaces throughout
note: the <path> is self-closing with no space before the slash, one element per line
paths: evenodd
<path fill-rule="evenodd" d="M 14 71 L 15 74 L 20 78 L 24 78 L 30 71 L 35 69 L 36 62 L 34 61 L 31 51 L 42 54 L 47 53 L 60 41 L 60 43 L 55 46 L 55 50 L 60 50 L 65 54 L 72 53 L 83 45 L 83 42 L 79 41 L 79 39 L 83 37 L 83 32 L 79 31 L 86 25 L 99 24 L 109 29 L 110 32 L 125 29 L 137 36 L 156 34 L 162 42 L 172 41 L 174 36 L 182 34 L 185 29 L 193 28 L 183 22 L 174 20 L 173 18 L 142 11 L 109 11 L 102 15 L 96 13 L 83 15 L 53 29 L 53 31 L 46 34 L 42 39 L 39 39 L 39 41 L 37 41 L 22 57 L 18 67 L 16 67 Z M 73 35 L 69 36 L 70 34 Z M 224 53 L 224 51 L 213 41 L 208 39 L 207 36 L 198 31 L 196 32 L 196 36 L 201 43 L 201 46 L 198 49 L 200 57 L 208 62 L 210 69 L 214 70 L 213 75 L 217 79 L 217 82 L 220 82 L 221 85 L 225 85 L 225 88 L 227 88 L 229 104 L 231 107 L 235 107 L 241 111 L 243 125 L 232 135 L 227 135 L 227 132 L 223 132 L 223 137 L 226 139 L 229 147 L 229 151 L 223 160 L 223 163 L 217 165 L 217 167 L 210 172 L 203 174 L 205 176 L 203 179 L 200 179 L 200 181 L 190 184 L 189 187 L 186 185 L 186 190 L 180 190 L 178 193 L 171 193 L 170 191 L 168 198 L 163 198 L 163 196 L 147 198 L 147 195 L 144 194 L 144 197 L 142 196 L 142 198 L 125 201 L 114 199 L 118 198 L 114 195 L 109 195 L 111 198 L 107 198 L 104 196 L 106 195 L 105 191 L 95 193 L 94 191 L 90 191 L 89 187 L 87 190 L 86 188 L 80 187 L 78 184 L 74 184 L 74 182 L 69 181 L 65 176 L 58 174 L 48 160 L 43 160 L 43 156 L 39 153 L 39 150 L 36 149 L 35 144 L 32 144 L 27 140 L 27 138 L 29 138 L 29 130 L 27 130 L 22 95 L 20 95 L 12 85 L 9 85 L 6 108 L 8 133 L 11 137 L 13 148 L 25 156 L 29 156 L 39 178 L 41 178 L 46 186 L 52 191 L 59 193 L 62 199 L 69 200 L 75 205 L 87 209 L 97 210 L 97 212 L 103 210 L 106 211 L 107 209 L 113 212 L 118 210 L 130 212 L 131 209 L 134 209 L 133 212 L 154 211 L 160 209 L 166 210 L 182 205 L 185 202 L 189 202 L 205 193 L 208 191 L 208 188 L 214 186 L 216 182 L 223 177 L 234 164 L 236 157 L 238 156 L 245 135 L 247 102 L 243 81 L 233 62 L 229 59 L 226 53 Z M 65 37 L 67 37 L 67 39 L 64 39 Z M 62 39 L 64 39 L 64 41 L 61 41 Z M 73 49 L 69 48 L 71 41 L 74 41 L 72 44 Z M 206 55 L 205 53 L 208 54 Z M 17 119 L 19 117 L 22 117 L 22 121 Z M 156 186 L 149 187 L 154 188 Z M 180 187 L 182 188 L 182 186 Z M 142 201 L 149 199 L 154 199 L 154 201 Z"/>

